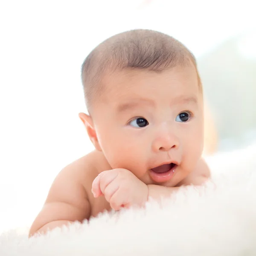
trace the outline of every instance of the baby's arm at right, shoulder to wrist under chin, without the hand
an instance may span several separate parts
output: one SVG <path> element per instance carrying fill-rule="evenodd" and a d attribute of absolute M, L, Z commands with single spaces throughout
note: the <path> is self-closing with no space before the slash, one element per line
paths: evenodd
<path fill-rule="evenodd" d="M 173 192 L 179 189 L 179 186 L 200 186 L 206 182 L 210 177 L 209 167 L 203 159 L 199 160 L 194 172 L 192 172 L 186 179 L 182 180 L 176 187 L 166 187 L 159 185 L 148 185 L 148 198 L 159 200 L 160 198 L 169 197 Z"/>

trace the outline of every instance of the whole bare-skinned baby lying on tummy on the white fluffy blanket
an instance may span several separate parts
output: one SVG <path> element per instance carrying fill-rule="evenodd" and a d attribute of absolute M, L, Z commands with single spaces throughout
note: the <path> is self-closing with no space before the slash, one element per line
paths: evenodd
<path fill-rule="evenodd" d="M 93 49 L 81 70 L 96 150 L 55 178 L 29 235 L 104 210 L 143 207 L 210 176 L 202 159 L 204 108 L 193 55 L 174 38 L 132 30 Z"/>

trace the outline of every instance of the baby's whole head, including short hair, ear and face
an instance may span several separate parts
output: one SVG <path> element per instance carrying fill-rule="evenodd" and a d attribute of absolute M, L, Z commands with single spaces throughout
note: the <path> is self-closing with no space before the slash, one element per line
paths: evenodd
<path fill-rule="evenodd" d="M 150 30 L 108 38 L 85 59 L 82 83 L 90 115 L 80 118 L 112 169 L 175 186 L 195 168 L 202 88 L 195 58 L 179 41 Z"/>

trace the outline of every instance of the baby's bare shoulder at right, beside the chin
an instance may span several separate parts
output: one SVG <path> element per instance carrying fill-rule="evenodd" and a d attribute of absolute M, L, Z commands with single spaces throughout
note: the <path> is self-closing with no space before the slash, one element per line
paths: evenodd
<path fill-rule="evenodd" d="M 191 172 L 184 180 L 182 180 L 178 185 L 195 185 L 200 186 L 205 181 L 207 181 L 211 177 L 211 172 L 209 166 L 205 162 L 203 158 L 198 161 L 195 170 Z"/>

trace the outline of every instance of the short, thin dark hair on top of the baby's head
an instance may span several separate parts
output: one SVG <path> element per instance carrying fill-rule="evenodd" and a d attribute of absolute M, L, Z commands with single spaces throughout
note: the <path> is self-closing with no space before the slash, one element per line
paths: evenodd
<path fill-rule="evenodd" d="M 191 64 L 196 68 L 192 53 L 169 35 L 148 29 L 114 35 L 93 49 L 82 64 L 81 79 L 87 108 L 103 91 L 102 78 L 106 72 L 125 68 L 161 72 Z"/>

